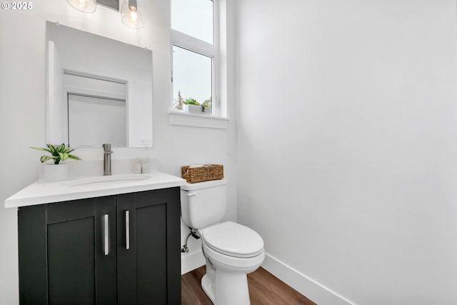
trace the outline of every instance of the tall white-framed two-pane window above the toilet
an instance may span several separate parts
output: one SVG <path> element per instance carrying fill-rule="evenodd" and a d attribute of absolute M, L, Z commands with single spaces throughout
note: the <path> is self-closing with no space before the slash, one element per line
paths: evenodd
<path fill-rule="evenodd" d="M 174 111 L 221 114 L 213 103 L 219 51 L 216 11 L 217 0 L 171 0 Z"/>

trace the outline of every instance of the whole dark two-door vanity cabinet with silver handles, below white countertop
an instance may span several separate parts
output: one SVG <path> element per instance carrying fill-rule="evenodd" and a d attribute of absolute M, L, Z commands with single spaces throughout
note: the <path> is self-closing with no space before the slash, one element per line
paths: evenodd
<path fill-rule="evenodd" d="M 20 304 L 181 304 L 179 187 L 19 207 Z"/>

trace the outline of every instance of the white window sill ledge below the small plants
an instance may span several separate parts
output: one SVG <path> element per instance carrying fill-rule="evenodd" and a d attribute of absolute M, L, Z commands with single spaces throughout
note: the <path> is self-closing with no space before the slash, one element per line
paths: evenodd
<path fill-rule="evenodd" d="M 228 129 L 229 119 L 220 116 L 188 114 L 180 111 L 169 111 L 170 125 L 194 126 L 215 129 Z"/>

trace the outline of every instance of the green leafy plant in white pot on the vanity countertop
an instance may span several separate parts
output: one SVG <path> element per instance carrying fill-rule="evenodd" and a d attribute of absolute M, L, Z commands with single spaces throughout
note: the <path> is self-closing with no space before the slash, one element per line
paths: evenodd
<path fill-rule="evenodd" d="M 74 149 L 66 147 L 65 144 L 60 145 L 52 145 L 46 144 L 47 148 L 41 147 L 31 147 L 31 149 L 38 149 L 40 151 L 47 151 L 51 156 L 41 156 L 40 161 L 44 163 L 48 160 L 53 160 L 54 163 L 52 164 L 44 164 L 44 179 L 46 181 L 58 181 L 66 179 L 68 176 L 68 168 L 67 165 L 64 163 L 60 163 L 61 161 L 65 161 L 66 159 L 74 159 L 74 160 L 81 160 L 79 157 L 70 154 Z"/>

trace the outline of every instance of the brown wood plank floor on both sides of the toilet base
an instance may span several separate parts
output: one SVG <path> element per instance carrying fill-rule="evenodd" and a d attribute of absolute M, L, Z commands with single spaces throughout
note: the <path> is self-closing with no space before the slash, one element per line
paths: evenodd
<path fill-rule="evenodd" d="M 200 286 L 205 273 L 201 266 L 181 276 L 181 305 L 213 304 Z M 248 286 L 251 305 L 316 305 L 263 268 L 248 274 Z"/>

